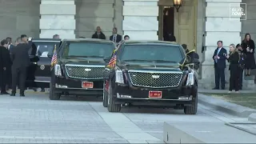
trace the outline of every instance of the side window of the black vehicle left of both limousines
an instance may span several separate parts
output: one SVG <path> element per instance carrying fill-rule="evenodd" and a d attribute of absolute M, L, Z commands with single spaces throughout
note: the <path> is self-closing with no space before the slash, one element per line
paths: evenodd
<path fill-rule="evenodd" d="M 55 45 L 58 48 L 59 42 L 33 42 L 31 54 L 47 57 L 47 54 L 53 54 Z"/>

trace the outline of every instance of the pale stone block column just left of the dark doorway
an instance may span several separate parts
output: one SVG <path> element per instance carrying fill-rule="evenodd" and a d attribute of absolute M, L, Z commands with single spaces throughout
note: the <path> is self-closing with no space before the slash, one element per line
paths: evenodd
<path fill-rule="evenodd" d="M 131 40 L 158 40 L 158 0 L 123 1 L 123 34 Z"/>

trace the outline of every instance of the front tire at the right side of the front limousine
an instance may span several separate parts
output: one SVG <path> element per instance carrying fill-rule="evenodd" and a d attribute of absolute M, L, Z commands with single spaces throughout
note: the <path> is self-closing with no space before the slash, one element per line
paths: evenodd
<path fill-rule="evenodd" d="M 193 96 L 192 106 L 184 107 L 185 114 L 197 114 L 197 112 L 198 112 L 198 88 L 197 88 L 197 86 L 194 88 L 192 96 Z"/>

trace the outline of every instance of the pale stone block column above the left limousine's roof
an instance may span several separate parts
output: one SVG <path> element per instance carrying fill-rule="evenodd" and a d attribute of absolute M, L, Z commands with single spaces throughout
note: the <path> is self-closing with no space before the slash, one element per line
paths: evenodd
<path fill-rule="evenodd" d="M 74 0 L 41 0 L 40 38 L 75 38 Z"/>

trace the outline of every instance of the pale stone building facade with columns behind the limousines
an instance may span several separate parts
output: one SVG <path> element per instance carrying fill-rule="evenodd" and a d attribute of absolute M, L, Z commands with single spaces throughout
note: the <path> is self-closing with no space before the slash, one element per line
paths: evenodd
<path fill-rule="evenodd" d="M 198 51 L 202 62 L 200 75 L 206 87 L 213 86 L 212 54 L 216 42 L 241 42 L 244 34 L 256 38 L 255 0 L 182 0 L 174 10 L 174 35 Z M 230 20 L 230 3 L 246 3 L 245 21 Z M 162 33 L 162 6 L 173 0 L 2 0 L 0 2 L 0 38 L 27 34 L 34 38 L 90 38 L 96 26 L 109 38 L 113 27 L 118 34 L 134 40 L 158 40 Z M 205 37 L 202 35 L 205 34 Z M 202 52 L 202 46 L 205 50 Z M 228 76 L 228 71 L 226 71 Z"/>

